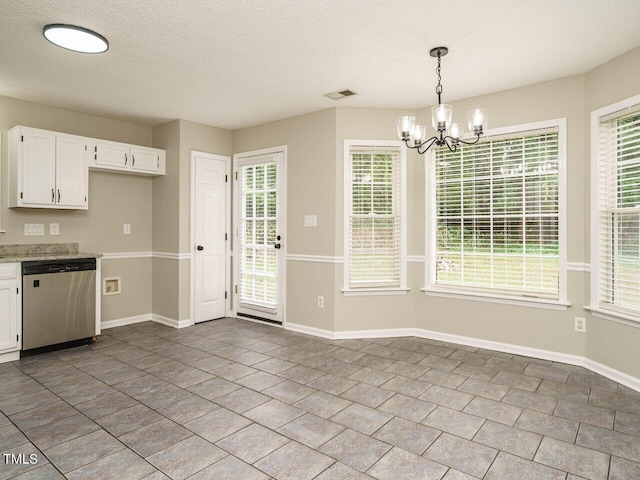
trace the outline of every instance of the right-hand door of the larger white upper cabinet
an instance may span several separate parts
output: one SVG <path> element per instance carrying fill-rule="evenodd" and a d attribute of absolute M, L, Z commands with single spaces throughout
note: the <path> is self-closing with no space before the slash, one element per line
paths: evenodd
<path fill-rule="evenodd" d="M 56 203 L 65 207 L 87 204 L 88 167 L 83 138 L 56 138 Z"/>

